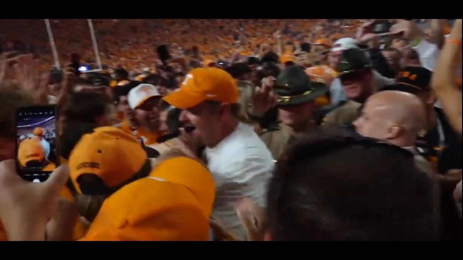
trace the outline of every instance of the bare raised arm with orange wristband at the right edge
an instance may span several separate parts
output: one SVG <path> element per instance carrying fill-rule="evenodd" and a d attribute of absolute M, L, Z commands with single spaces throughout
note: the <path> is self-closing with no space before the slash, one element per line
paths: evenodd
<path fill-rule="evenodd" d="M 462 136 L 462 92 L 457 87 L 457 66 L 461 66 L 462 19 L 457 19 L 442 49 L 432 88 L 440 101 L 450 125 Z"/>

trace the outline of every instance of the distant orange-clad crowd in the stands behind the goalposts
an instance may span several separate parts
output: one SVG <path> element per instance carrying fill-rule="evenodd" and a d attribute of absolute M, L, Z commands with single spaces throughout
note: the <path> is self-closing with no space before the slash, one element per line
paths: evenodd
<path fill-rule="evenodd" d="M 60 62 L 69 53 L 79 53 L 86 63 L 95 62 L 87 19 L 49 19 Z M 226 60 L 235 51 L 250 56 L 261 45 L 275 48 L 273 37 L 282 30 L 282 40 L 297 46 L 304 41 L 326 38 L 329 42 L 352 37 L 362 19 L 92 19 L 103 64 L 119 65 L 133 72 L 157 64 L 156 46 L 170 44 L 176 55 L 193 52 L 203 60 Z M 1 23 L 3 50 L 22 43 L 40 54 L 44 68 L 54 66 L 44 19 L 14 19 Z M 306 28 L 312 28 L 307 31 Z M 241 42 L 246 37 L 249 42 Z M 266 50 L 263 50 L 266 51 Z"/>

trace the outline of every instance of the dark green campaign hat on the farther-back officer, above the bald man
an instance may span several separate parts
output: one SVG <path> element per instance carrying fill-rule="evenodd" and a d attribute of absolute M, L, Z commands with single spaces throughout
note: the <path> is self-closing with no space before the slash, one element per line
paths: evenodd
<path fill-rule="evenodd" d="M 344 50 L 341 54 L 338 65 L 336 66 L 336 72 L 338 73 L 338 77 L 341 77 L 364 68 L 370 68 L 370 61 L 365 51 L 360 49 L 349 49 Z"/>

